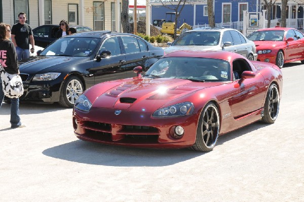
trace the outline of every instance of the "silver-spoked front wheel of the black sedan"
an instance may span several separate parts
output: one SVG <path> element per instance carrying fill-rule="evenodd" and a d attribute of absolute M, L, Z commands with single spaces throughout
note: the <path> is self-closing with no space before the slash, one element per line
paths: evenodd
<path fill-rule="evenodd" d="M 83 93 L 84 85 L 79 77 L 69 76 L 61 88 L 59 104 L 63 107 L 73 107 L 77 98 Z"/>

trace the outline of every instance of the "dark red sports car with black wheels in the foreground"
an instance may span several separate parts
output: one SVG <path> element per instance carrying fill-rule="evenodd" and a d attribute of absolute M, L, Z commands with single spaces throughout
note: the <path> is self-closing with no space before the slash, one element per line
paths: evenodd
<path fill-rule="evenodd" d="M 74 134 L 104 144 L 210 151 L 218 136 L 279 113 L 282 72 L 226 51 L 176 51 L 144 76 L 97 84 L 73 110 Z M 102 115 L 100 115 L 102 114 Z"/>

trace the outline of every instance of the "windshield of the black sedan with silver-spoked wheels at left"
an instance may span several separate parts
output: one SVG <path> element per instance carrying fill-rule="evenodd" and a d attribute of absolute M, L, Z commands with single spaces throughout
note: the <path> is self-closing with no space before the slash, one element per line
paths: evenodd
<path fill-rule="evenodd" d="M 44 49 L 39 55 L 87 57 L 94 52 L 99 42 L 100 38 L 62 37 Z"/>

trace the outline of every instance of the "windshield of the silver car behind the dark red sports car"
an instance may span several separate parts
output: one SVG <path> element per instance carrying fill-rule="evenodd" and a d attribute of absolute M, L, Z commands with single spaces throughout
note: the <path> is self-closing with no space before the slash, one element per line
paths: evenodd
<path fill-rule="evenodd" d="M 216 46 L 219 31 L 189 31 L 180 35 L 171 46 Z"/>

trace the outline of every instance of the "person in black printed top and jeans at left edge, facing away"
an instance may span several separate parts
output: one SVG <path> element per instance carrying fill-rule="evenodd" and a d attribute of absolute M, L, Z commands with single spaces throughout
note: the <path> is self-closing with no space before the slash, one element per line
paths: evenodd
<path fill-rule="evenodd" d="M 17 61 L 16 49 L 9 40 L 11 37 L 10 30 L 7 25 L 0 23 L 0 64 L 4 68 L 4 71 L 10 74 L 19 74 L 19 66 Z M 0 77 L 0 108 L 4 99 L 4 92 L 2 87 L 2 79 Z M 21 124 L 19 116 L 19 98 L 11 98 L 11 128 L 23 128 L 24 124 Z"/>

